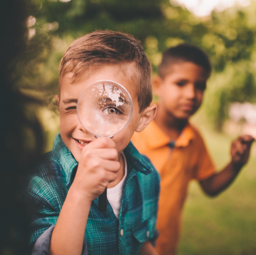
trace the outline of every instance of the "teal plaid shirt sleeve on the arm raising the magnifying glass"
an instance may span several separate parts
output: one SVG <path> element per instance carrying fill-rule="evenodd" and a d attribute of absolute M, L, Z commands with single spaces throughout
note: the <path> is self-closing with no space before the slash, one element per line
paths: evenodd
<path fill-rule="evenodd" d="M 60 214 L 67 189 L 57 169 L 56 163 L 43 161 L 37 169 L 40 174 L 30 179 L 27 189 L 28 206 L 33 212 L 30 243 L 55 225 Z"/>

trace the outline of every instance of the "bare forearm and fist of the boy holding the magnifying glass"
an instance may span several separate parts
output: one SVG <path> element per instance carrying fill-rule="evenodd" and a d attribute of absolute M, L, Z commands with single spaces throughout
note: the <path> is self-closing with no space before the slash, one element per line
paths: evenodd
<path fill-rule="evenodd" d="M 92 200 L 116 179 L 120 169 L 115 142 L 101 137 L 86 145 L 76 176 L 52 232 L 50 254 L 81 254 Z"/>

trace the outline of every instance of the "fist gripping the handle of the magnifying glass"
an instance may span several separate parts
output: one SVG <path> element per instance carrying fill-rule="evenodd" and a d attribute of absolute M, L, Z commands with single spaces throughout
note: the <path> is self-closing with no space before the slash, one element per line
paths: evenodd
<path fill-rule="evenodd" d="M 99 137 L 84 147 L 72 186 L 92 201 L 116 180 L 120 166 L 116 143 Z"/>

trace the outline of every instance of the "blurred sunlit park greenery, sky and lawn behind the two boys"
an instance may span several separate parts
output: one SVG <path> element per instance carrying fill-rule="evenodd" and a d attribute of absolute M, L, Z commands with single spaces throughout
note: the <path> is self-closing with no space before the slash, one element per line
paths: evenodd
<path fill-rule="evenodd" d="M 201 47 L 213 72 L 204 103 L 192 122 L 202 132 L 218 168 L 228 163 L 237 135 L 256 137 L 255 0 L 31 0 L 27 51 L 17 62 L 17 87 L 43 98 L 36 108 L 51 150 L 58 132 L 54 95 L 64 51 L 95 29 L 138 38 L 154 73 L 162 52 L 178 43 Z M 236 182 L 210 199 L 192 183 L 178 255 L 256 254 L 256 148 Z"/>

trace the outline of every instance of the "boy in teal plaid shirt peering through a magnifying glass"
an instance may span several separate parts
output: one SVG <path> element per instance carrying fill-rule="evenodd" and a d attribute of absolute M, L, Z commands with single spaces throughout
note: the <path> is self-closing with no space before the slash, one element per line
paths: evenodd
<path fill-rule="evenodd" d="M 130 122 L 112 138 L 96 138 L 77 116 L 79 95 L 98 80 L 122 84 L 133 101 Z M 60 134 L 26 191 L 35 212 L 32 254 L 156 254 L 151 242 L 159 176 L 130 142 L 156 113 L 150 105 L 151 66 L 141 45 L 108 30 L 78 38 L 61 60 L 56 99 Z M 105 188 L 112 189 L 112 199 L 100 212 L 98 197 Z"/>

